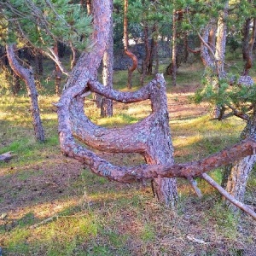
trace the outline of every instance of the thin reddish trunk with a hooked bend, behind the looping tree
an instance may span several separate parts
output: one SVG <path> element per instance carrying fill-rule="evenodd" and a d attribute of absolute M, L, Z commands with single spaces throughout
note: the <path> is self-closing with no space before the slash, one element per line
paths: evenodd
<path fill-rule="evenodd" d="M 131 79 L 132 73 L 137 68 L 137 57 L 128 49 L 128 0 L 125 0 L 125 10 L 124 10 L 124 46 L 125 46 L 125 55 L 129 56 L 132 61 L 132 66 L 128 67 L 128 79 L 127 79 L 127 88 L 131 89 Z"/>

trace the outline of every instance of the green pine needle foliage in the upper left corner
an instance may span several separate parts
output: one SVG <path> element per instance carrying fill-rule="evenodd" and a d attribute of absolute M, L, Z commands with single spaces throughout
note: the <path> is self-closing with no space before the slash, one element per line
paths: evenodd
<path fill-rule="evenodd" d="M 47 49 L 59 41 L 80 50 L 89 47 L 91 17 L 79 4 L 68 0 L 12 0 L 0 6 L 0 26 L 4 28 L 1 44 L 20 41 Z"/>

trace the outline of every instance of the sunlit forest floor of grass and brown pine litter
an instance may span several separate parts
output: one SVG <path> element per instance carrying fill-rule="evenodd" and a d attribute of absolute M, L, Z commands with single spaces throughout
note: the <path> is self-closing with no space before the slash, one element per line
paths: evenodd
<path fill-rule="evenodd" d="M 207 105 L 189 103 L 202 74 L 201 64 L 194 63 L 179 69 L 175 88 L 166 78 L 177 162 L 201 159 L 236 143 L 244 126 L 236 118 L 210 121 Z M 119 90 L 125 90 L 126 75 L 115 73 Z M 138 80 L 136 73 L 134 89 Z M 33 139 L 27 96 L 0 97 L 0 154 L 15 153 L 13 160 L 0 163 L 3 255 L 255 255 L 255 221 L 231 214 L 207 183 L 199 180 L 204 193 L 199 200 L 179 179 L 179 203 L 167 209 L 153 198 L 149 185 L 108 182 L 61 155 L 53 92 L 52 83 L 44 84 L 39 96 L 46 143 Z M 86 100 L 86 113 L 98 125 L 118 126 L 147 116 L 150 106 L 115 103 L 113 118 L 100 119 Z M 143 161 L 137 154 L 104 156 L 121 165 Z M 220 169 L 211 175 L 221 180 Z M 254 203 L 255 186 L 254 174 L 247 184 L 247 199 Z"/>

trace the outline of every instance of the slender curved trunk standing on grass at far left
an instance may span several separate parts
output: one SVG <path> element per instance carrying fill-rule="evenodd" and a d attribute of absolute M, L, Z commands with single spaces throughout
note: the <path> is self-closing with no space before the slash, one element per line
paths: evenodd
<path fill-rule="evenodd" d="M 44 142 L 44 128 L 40 118 L 39 108 L 38 108 L 38 92 L 36 89 L 35 79 L 32 72 L 32 67 L 25 68 L 20 65 L 15 57 L 15 45 L 9 44 L 6 46 L 7 56 L 9 59 L 9 65 L 14 70 L 14 72 L 24 80 L 26 83 L 26 89 L 28 96 L 30 96 L 31 102 L 31 112 L 32 120 L 35 131 L 35 137 L 38 141 Z"/>

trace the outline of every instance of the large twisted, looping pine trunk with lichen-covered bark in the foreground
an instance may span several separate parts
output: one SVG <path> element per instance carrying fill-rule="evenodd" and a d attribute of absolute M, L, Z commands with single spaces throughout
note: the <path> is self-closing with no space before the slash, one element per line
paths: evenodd
<path fill-rule="evenodd" d="M 218 189 L 232 203 L 248 212 L 256 219 L 256 213 L 222 189 L 206 172 L 241 159 L 254 153 L 256 141 L 247 138 L 231 148 L 213 154 L 206 159 L 183 164 L 174 164 L 172 137 L 166 102 L 166 82 L 161 74 L 134 92 L 119 92 L 104 86 L 96 80 L 97 68 L 102 61 L 108 32 L 110 30 L 111 0 L 95 0 L 93 5 L 93 49 L 84 52 L 74 67 L 66 90 L 56 103 L 58 108 L 59 135 L 61 151 L 69 157 L 84 162 L 90 170 L 99 176 L 122 182 L 142 182 L 154 179 L 154 191 L 160 201 L 173 205 L 177 200 L 176 180 L 173 177 L 184 177 L 189 180 L 200 195 L 195 177 L 202 177 Z M 137 124 L 123 128 L 107 129 L 93 124 L 84 114 L 84 98 L 96 92 L 118 102 L 140 102 L 149 99 L 152 113 Z M 78 139 L 80 143 L 76 140 Z M 106 152 L 142 154 L 146 164 L 140 166 L 114 166 L 102 159 L 88 147 Z"/>

